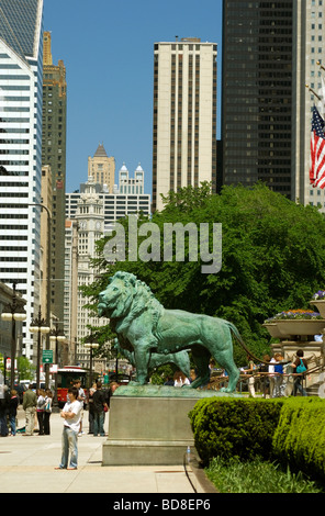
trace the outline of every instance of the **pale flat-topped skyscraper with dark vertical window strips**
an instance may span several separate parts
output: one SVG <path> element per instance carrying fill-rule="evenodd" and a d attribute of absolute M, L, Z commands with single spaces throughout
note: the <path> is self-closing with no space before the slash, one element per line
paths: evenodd
<path fill-rule="evenodd" d="M 160 194 L 216 180 L 216 44 L 200 38 L 154 48 L 153 211 Z"/>

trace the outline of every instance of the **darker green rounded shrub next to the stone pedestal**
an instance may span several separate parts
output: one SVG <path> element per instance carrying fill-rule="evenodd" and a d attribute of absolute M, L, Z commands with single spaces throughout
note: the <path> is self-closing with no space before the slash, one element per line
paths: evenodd
<path fill-rule="evenodd" d="M 189 417 L 203 464 L 213 457 L 269 459 L 282 400 L 203 399 Z"/>

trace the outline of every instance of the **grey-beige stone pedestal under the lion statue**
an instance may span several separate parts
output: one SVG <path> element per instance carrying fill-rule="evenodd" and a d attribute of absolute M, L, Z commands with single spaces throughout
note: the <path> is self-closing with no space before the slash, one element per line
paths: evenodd
<path fill-rule="evenodd" d="M 198 399 L 111 399 L 102 465 L 182 464 L 193 447 L 189 412 Z"/>

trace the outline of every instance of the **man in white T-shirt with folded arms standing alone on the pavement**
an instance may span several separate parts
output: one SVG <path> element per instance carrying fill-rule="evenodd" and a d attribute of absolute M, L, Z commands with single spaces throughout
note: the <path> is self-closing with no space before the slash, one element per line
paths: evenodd
<path fill-rule="evenodd" d="M 63 417 L 65 422 L 61 435 L 61 460 L 56 470 L 76 470 L 78 468 L 78 434 L 81 416 L 78 389 L 75 386 L 69 388 L 68 397 L 70 403 L 66 403 L 60 413 L 60 417 Z"/>

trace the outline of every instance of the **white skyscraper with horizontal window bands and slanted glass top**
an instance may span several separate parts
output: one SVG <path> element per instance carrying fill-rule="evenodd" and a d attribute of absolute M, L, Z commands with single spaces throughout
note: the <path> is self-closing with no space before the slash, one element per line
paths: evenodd
<path fill-rule="evenodd" d="M 41 289 L 42 59 L 43 0 L 0 0 L 0 280 L 26 299 L 30 358 Z"/>

